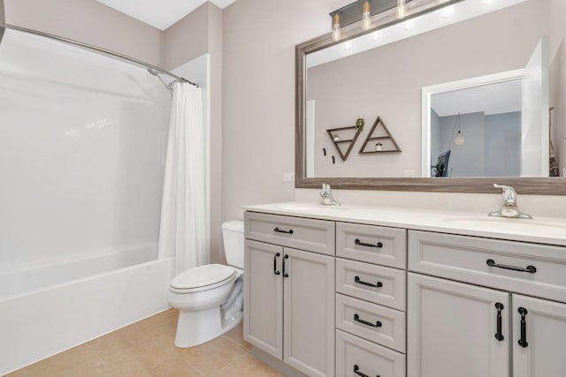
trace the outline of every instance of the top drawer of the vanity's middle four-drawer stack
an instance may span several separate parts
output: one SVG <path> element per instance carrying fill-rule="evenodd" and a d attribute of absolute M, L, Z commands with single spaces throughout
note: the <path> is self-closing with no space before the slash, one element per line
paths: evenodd
<path fill-rule="evenodd" d="M 336 223 L 336 255 L 351 260 L 405 268 L 407 230 Z M 367 245 L 363 245 L 367 244 Z"/>

